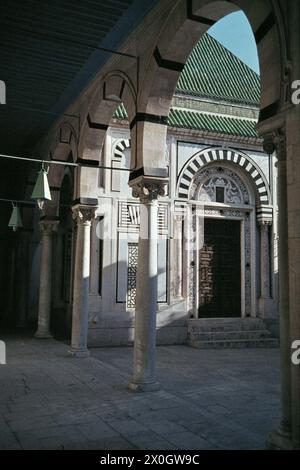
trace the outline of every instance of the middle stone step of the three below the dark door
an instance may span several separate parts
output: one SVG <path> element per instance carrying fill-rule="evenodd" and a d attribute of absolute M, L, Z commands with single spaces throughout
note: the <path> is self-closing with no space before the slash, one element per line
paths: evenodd
<path fill-rule="evenodd" d="M 269 330 L 188 332 L 191 341 L 218 341 L 231 339 L 265 339 L 272 336 Z"/>

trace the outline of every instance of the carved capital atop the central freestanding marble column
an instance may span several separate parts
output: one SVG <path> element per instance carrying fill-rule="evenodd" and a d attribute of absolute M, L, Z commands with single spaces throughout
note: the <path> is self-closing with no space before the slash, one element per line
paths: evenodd
<path fill-rule="evenodd" d="M 142 203 L 149 203 L 159 196 L 165 196 L 167 182 L 165 178 L 153 178 L 142 176 L 132 187 L 133 197 L 139 198 Z"/>

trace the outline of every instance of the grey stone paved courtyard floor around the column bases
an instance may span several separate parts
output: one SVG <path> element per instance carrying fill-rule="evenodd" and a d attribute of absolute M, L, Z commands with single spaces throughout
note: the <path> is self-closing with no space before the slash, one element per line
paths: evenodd
<path fill-rule="evenodd" d="M 138 394 L 131 348 L 74 359 L 54 340 L 6 343 L 0 449 L 262 449 L 278 423 L 276 349 L 159 347 L 162 389 Z"/>

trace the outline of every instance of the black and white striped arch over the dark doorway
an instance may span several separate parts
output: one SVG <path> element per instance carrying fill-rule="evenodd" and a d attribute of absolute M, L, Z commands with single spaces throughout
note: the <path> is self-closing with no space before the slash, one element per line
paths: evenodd
<path fill-rule="evenodd" d="M 228 161 L 235 163 L 251 177 L 256 190 L 260 204 L 269 204 L 269 191 L 267 182 L 259 167 L 243 154 L 233 150 L 207 149 L 193 156 L 183 168 L 178 182 L 178 197 L 188 199 L 189 189 L 195 174 L 208 163 L 217 161 Z"/>

